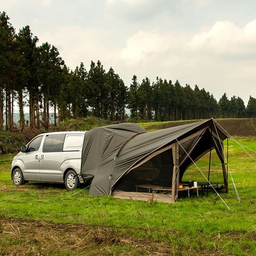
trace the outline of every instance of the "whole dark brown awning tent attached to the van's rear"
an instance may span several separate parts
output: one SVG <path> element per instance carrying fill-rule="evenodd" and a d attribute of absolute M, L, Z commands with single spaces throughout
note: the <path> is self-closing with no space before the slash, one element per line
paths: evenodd
<path fill-rule="evenodd" d="M 89 195 L 173 202 L 184 172 L 211 149 L 222 163 L 228 190 L 223 140 L 226 132 L 214 119 L 155 132 L 134 123 L 98 127 L 84 137 L 81 174 L 91 180 Z M 172 187 L 169 194 L 139 193 L 136 185 Z"/>

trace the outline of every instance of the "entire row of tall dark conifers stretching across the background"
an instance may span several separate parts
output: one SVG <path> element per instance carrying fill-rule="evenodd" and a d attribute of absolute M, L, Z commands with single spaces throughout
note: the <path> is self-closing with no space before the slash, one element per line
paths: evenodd
<path fill-rule="evenodd" d="M 51 112 L 54 125 L 87 116 L 123 121 L 129 112 L 133 121 L 256 117 L 256 99 L 251 96 L 245 107 L 240 97 L 229 100 L 224 94 L 218 102 L 197 85 L 193 89 L 161 78 L 138 83 L 136 75 L 127 87 L 99 60 L 91 61 L 88 71 L 82 62 L 70 70 L 55 46 L 38 42 L 29 25 L 16 33 L 6 13 L 0 12 L 0 131 L 14 129 L 15 108 L 20 130 L 48 129 Z M 24 118 L 25 107 L 30 120 Z"/>

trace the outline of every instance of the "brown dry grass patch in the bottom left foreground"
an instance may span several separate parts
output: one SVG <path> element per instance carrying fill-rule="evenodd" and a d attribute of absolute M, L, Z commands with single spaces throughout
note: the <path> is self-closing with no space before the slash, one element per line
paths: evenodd
<path fill-rule="evenodd" d="M 110 227 L 52 224 L 2 217 L 0 238 L 0 255 L 160 256 L 170 254 L 171 251 L 170 246 L 163 242 L 120 235 Z"/>

